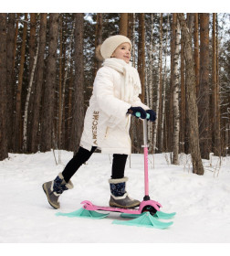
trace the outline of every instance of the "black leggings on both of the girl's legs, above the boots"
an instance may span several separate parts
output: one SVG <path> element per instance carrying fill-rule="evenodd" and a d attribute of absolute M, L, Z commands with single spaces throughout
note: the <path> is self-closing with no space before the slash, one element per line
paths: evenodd
<path fill-rule="evenodd" d="M 82 164 L 89 160 L 96 149 L 96 146 L 93 146 L 90 151 L 81 146 L 79 147 L 78 153 L 68 162 L 62 172 L 66 182 L 78 171 Z M 127 157 L 128 155 L 113 154 L 111 178 L 122 178 L 124 176 Z"/>

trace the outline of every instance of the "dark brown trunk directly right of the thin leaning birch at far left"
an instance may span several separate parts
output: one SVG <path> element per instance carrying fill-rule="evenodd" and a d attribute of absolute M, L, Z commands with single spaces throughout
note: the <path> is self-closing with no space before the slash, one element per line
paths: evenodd
<path fill-rule="evenodd" d="M 46 32 L 47 32 L 47 14 L 41 14 L 40 16 L 40 31 L 39 31 L 39 50 L 37 56 L 36 69 L 36 90 L 35 99 L 33 105 L 33 116 L 32 116 L 32 134 L 31 134 L 31 151 L 36 153 L 38 149 L 38 129 L 40 122 L 40 107 L 41 107 L 41 95 L 42 95 L 42 84 L 44 74 L 44 54 L 46 47 Z"/>

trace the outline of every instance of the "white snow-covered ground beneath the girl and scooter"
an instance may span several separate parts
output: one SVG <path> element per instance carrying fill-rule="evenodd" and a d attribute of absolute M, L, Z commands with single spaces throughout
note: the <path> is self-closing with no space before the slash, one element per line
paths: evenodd
<path fill-rule="evenodd" d="M 57 155 L 57 152 L 56 152 Z M 170 155 L 149 155 L 150 196 L 162 211 L 177 214 L 169 229 L 114 225 L 119 213 L 106 219 L 68 218 L 55 214 L 81 208 L 90 200 L 107 206 L 110 198 L 111 155 L 95 153 L 72 177 L 74 189 L 60 197 L 61 208 L 47 203 L 42 184 L 57 176 L 72 157 L 62 151 L 56 165 L 53 152 L 9 154 L 0 162 L 0 243 L 229 243 L 230 157 L 204 161 L 204 176 L 194 175 L 188 155 L 170 165 Z M 143 155 L 131 155 L 126 165 L 128 192 L 142 199 Z M 168 221 L 168 220 L 162 220 Z"/>

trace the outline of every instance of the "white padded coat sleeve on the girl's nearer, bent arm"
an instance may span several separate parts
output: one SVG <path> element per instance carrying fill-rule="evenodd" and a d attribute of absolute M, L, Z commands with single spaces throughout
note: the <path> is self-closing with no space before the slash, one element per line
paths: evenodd
<path fill-rule="evenodd" d="M 113 75 L 110 69 L 104 67 L 99 69 L 94 81 L 93 93 L 99 108 L 109 116 L 124 117 L 131 107 L 130 103 L 121 101 L 114 96 Z"/>

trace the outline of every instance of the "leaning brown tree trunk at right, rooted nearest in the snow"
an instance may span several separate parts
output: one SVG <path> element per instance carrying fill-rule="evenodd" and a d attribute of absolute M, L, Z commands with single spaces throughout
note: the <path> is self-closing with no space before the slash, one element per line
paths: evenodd
<path fill-rule="evenodd" d="M 192 36 L 191 31 L 186 25 L 183 14 L 177 15 L 180 21 L 182 35 L 183 35 L 183 48 L 186 69 L 186 103 L 188 106 L 188 122 L 189 122 L 189 144 L 193 162 L 193 173 L 197 175 L 204 175 L 204 167 L 200 154 L 199 145 L 199 127 L 198 127 L 198 110 L 196 105 L 196 92 L 195 92 L 195 71 L 193 60 Z"/>

